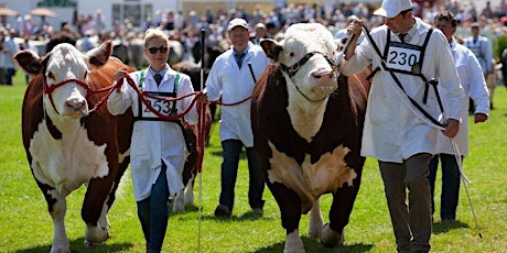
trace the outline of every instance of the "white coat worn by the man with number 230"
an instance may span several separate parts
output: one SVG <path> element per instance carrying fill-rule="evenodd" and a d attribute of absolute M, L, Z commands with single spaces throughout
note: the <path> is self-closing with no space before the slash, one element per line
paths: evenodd
<path fill-rule="evenodd" d="M 422 45 L 430 26 L 416 18 L 416 24 L 410 29 L 408 43 Z M 387 37 L 387 26 L 382 25 L 371 31 L 371 36 L 384 54 Z M 398 41 L 391 33 L 391 41 Z M 379 56 L 369 40 L 364 40 L 356 47 L 355 54 L 348 61 L 343 61 L 341 70 L 352 75 L 364 70 L 373 64 L 379 65 Z M 447 118 L 461 120 L 464 105 L 463 88 L 460 86 L 456 68 L 445 36 L 438 30 L 433 31 L 428 43 L 422 74 L 431 80 L 440 80 L 439 85 L 447 90 Z M 430 87 L 428 102 L 422 102 L 424 82 L 418 76 L 395 74 L 407 94 L 414 99 L 433 118 L 441 119 L 434 90 Z M 440 130 L 419 117 L 407 96 L 398 88 L 391 75 L 386 70 L 378 72 L 368 96 L 365 128 L 363 131 L 362 155 L 376 157 L 382 162 L 401 163 L 418 153 L 436 153 L 436 140 Z"/>

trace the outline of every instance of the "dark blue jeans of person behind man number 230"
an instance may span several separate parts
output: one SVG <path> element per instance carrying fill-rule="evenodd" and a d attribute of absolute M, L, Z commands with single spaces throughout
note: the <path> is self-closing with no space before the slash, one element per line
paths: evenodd
<path fill-rule="evenodd" d="M 460 198 L 460 169 L 457 168 L 454 155 L 438 154 L 430 161 L 430 180 L 431 186 L 431 213 L 434 213 L 434 189 L 436 169 L 439 167 L 439 157 L 442 162 L 442 195 L 440 199 L 440 218 L 442 220 L 455 220 L 457 200 Z M 463 160 L 463 156 L 462 156 Z"/>

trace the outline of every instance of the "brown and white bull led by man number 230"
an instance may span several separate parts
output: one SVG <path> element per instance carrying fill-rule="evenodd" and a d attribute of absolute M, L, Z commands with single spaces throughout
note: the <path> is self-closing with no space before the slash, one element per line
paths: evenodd
<path fill-rule="evenodd" d="M 360 140 L 369 82 L 337 76 L 337 45 L 321 24 L 294 24 L 284 40 L 261 42 L 272 63 L 251 98 L 251 123 L 267 186 L 287 230 L 284 252 L 304 252 L 301 216 L 310 237 L 342 245 L 365 158 Z M 330 223 L 319 198 L 333 195 Z"/>

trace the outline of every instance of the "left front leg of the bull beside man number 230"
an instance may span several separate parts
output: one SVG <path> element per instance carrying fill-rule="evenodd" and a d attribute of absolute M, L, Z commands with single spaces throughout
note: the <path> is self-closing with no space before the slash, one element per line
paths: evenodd
<path fill-rule="evenodd" d="M 283 252 L 304 252 L 303 241 L 299 234 L 301 221 L 301 199 L 295 191 L 274 183 L 267 184 L 271 190 L 281 212 L 282 227 L 285 229 L 287 239 Z"/>

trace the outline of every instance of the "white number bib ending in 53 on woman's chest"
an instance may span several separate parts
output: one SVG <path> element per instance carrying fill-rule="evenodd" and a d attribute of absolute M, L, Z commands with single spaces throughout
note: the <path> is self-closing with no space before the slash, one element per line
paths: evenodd
<path fill-rule="evenodd" d="M 157 96 L 161 99 L 144 97 L 153 110 L 162 116 L 174 116 L 176 114 L 176 107 L 174 102 L 166 101 L 166 98 L 174 98 L 174 92 L 158 92 L 158 91 L 144 91 L 151 96 Z M 153 113 L 139 98 L 139 118 L 142 120 L 162 120 L 155 113 Z"/>

